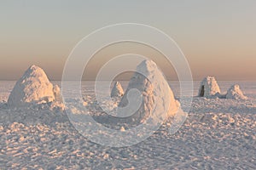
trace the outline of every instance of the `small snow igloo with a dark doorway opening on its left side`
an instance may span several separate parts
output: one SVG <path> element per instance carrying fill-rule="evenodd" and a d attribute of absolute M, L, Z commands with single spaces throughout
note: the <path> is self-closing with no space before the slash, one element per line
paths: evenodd
<path fill-rule="evenodd" d="M 214 95 L 220 94 L 218 83 L 214 77 L 206 77 L 202 80 L 198 96 L 210 98 Z"/>

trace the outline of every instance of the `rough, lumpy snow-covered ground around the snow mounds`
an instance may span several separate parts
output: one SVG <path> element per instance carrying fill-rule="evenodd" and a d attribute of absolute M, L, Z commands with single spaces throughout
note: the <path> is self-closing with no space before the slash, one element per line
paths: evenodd
<path fill-rule="evenodd" d="M 225 93 L 234 82 L 218 83 Z M 256 82 L 239 82 L 247 101 L 195 98 L 177 133 L 164 124 L 125 148 L 84 139 L 65 113 L 47 105 L 9 110 L 14 84 L 0 82 L 0 169 L 256 169 Z M 178 97 L 178 83 L 170 84 Z M 83 89 L 94 102 L 91 82 Z"/>

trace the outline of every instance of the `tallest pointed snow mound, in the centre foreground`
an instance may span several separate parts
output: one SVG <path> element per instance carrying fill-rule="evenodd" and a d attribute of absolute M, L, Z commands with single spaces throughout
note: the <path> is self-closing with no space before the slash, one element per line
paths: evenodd
<path fill-rule="evenodd" d="M 143 72 L 143 75 L 139 72 Z M 137 66 L 137 72 L 131 77 L 128 88 L 119 103 L 120 107 L 129 105 L 129 98 L 131 103 L 136 100 L 131 99 L 131 94 L 129 94 L 129 91 L 133 88 L 136 88 L 142 96 L 141 105 L 131 116 L 133 122 L 144 122 L 148 116 L 152 116 L 154 113 L 165 114 L 165 116 L 174 116 L 177 113 L 180 104 L 174 99 L 168 82 L 166 82 L 165 77 L 154 61 L 144 60 Z M 170 105 L 168 105 L 169 103 Z"/>

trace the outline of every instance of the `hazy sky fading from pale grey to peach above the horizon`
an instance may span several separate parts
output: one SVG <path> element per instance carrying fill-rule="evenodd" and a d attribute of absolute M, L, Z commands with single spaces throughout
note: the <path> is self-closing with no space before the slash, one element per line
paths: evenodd
<path fill-rule="evenodd" d="M 256 80 L 254 0 L 2 0 L 0 79 L 15 80 L 32 64 L 43 67 L 50 79 L 61 79 L 67 56 L 80 39 L 122 22 L 165 31 L 183 50 L 196 80 L 207 75 L 218 80 Z M 126 44 L 125 50 L 117 46 L 99 53 L 85 74 L 95 74 L 96 63 L 110 54 L 130 52 L 129 47 L 136 52 L 137 47 Z M 172 69 L 160 67 L 168 78 L 175 77 Z"/>

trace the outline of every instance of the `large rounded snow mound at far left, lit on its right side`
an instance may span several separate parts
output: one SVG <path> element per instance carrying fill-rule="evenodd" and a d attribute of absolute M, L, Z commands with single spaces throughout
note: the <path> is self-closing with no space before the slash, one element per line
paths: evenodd
<path fill-rule="evenodd" d="M 36 65 L 29 67 L 15 84 L 9 95 L 8 105 L 19 107 L 27 104 L 61 102 L 61 90 L 49 82 L 43 69 Z"/>

